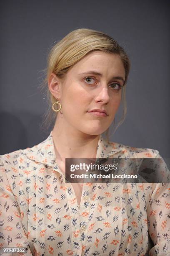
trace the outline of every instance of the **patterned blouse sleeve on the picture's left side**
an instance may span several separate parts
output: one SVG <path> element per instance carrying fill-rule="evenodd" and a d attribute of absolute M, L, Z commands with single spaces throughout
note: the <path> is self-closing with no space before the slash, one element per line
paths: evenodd
<path fill-rule="evenodd" d="M 7 173 L 10 172 L 12 173 L 11 177 L 15 180 L 16 173 L 10 169 L 5 169 L 5 161 L 0 160 L 0 252 L 2 248 L 25 247 L 26 253 L 0 253 L 0 256 L 30 256 L 32 255 L 30 244 L 23 229 L 22 216 L 17 201 L 19 195 L 15 195 L 12 190 L 12 187 L 17 186 L 18 182 L 10 184 L 7 178 Z M 11 167 L 11 169 L 13 168 Z"/>

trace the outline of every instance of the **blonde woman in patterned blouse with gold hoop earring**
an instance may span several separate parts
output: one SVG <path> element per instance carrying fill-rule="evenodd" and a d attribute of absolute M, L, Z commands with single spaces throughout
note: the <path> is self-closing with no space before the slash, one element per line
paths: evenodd
<path fill-rule="evenodd" d="M 43 256 L 168 255 L 169 184 L 65 182 L 66 158 L 160 158 L 102 137 L 121 100 L 125 117 L 129 69 L 125 51 L 99 31 L 77 29 L 53 46 L 46 81 L 54 128 L 38 145 L 1 156 L 1 247 Z"/>

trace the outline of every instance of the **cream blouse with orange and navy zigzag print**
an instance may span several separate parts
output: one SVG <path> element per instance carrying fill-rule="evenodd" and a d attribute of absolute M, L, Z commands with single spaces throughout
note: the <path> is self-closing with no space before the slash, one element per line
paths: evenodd
<path fill-rule="evenodd" d="M 96 158 L 161 156 L 100 135 Z M 85 183 L 78 206 L 51 131 L 32 148 L 0 156 L 0 248 L 7 247 L 26 247 L 16 256 L 170 255 L 170 183 Z"/>

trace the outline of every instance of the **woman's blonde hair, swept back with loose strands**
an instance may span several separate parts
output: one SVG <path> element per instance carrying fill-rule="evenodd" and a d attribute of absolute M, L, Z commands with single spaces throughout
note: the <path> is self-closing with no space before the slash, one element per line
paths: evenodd
<path fill-rule="evenodd" d="M 50 74 L 55 73 L 57 77 L 64 80 L 67 71 L 72 66 L 80 61 L 86 54 L 96 50 L 119 55 L 125 68 L 125 84 L 122 87 L 123 113 L 119 123 L 117 123 L 115 131 L 120 124 L 123 123 L 127 112 L 125 90 L 130 70 L 130 60 L 128 55 L 125 53 L 124 49 L 107 34 L 92 29 L 80 28 L 71 31 L 64 38 L 58 41 L 54 46 L 52 46 L 48 54 L 45 79 L 42 84 L 40 84 L 40 90 L 43 90 L 45 97 L 47 97 L 48 109 L 43 116 L 41 128 L 45 128 L 45 130 L 47 130 L 50 125 L 54 125 L 56 118 L 56 112 L 52 110 L 52 104 L 56 102 L 56 99 L 51 94 L 47 86 Z M 109 128 L 106 130 L 107 141 L 109 141 L 108 133 Z"/>

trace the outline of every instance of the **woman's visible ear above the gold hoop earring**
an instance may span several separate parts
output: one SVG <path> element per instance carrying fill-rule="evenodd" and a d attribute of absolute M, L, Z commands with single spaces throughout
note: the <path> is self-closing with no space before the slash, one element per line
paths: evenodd
<path fill-rule="evenodd" d="M 60 99 L 60 97 L 61 97 L 61 80 L 54 73 L 50 74 L 50 77 L 48 79 L 48 88 L 49 88 L 51 94 L 56 99 Z"/>

